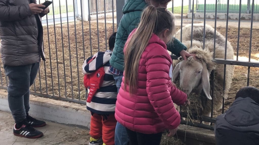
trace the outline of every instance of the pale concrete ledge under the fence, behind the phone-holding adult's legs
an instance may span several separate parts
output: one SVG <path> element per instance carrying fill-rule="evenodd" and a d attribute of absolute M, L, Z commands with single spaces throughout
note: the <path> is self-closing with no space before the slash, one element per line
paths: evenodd
<path fill-rule="evenodd" d="M 90 128 L 91 114 L 85 105 L 30 96 L 33 117 Z M 0 90 L 0 110 L 10 112 L 7 91 Z"/>

